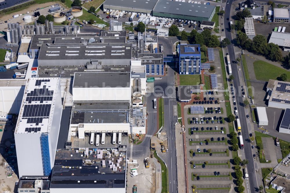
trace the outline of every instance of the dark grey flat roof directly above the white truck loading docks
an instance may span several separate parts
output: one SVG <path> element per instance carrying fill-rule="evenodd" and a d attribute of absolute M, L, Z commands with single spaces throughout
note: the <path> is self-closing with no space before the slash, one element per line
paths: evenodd
<path fill-rule="evenodd" d="M 129 112 L 76 112 L 71 124 L 79 123 L 127 123 Z M 94 121 L 95 120 L 95 121 Z"/>

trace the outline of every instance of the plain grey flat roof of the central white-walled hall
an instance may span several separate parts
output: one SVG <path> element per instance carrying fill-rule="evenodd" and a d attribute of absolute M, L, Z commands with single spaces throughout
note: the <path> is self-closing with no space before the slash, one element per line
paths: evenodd
<path fill-rule="evenodd" d="M 81 72 L 75 74 L 73 88 L 129 87 L 130 72 Z"/>

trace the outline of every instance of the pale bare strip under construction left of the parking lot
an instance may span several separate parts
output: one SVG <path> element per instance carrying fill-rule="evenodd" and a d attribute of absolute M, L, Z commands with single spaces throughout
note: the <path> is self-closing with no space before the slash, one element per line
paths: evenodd
<path fill-rule="evenodd" d="M 179 123 L 175 126 L 175 143 L 176 143 L 176 163 L 177 163 L 177 187 L 179 193 L 185 193 L 185 175 L 184 175 L 184 149 L 182 139 L 181 125 Z"/>

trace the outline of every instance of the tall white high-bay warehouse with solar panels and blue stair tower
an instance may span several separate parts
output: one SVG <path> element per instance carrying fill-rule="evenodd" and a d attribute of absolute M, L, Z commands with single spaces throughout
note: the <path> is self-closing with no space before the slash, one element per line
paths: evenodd
<path fill-rule="evenodd" d="M 14 132 L 19 177 L 50 175 L 61 113 L 60 79 L 28 79 Z"/>

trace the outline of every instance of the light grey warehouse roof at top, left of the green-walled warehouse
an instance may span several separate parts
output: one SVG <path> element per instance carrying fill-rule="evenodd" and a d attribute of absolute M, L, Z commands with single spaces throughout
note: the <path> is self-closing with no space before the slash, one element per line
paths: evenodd
<path fill-rule="evenodd" d="M 153 10 L 157 0 L 106 0 L 104 5 Z"/>

